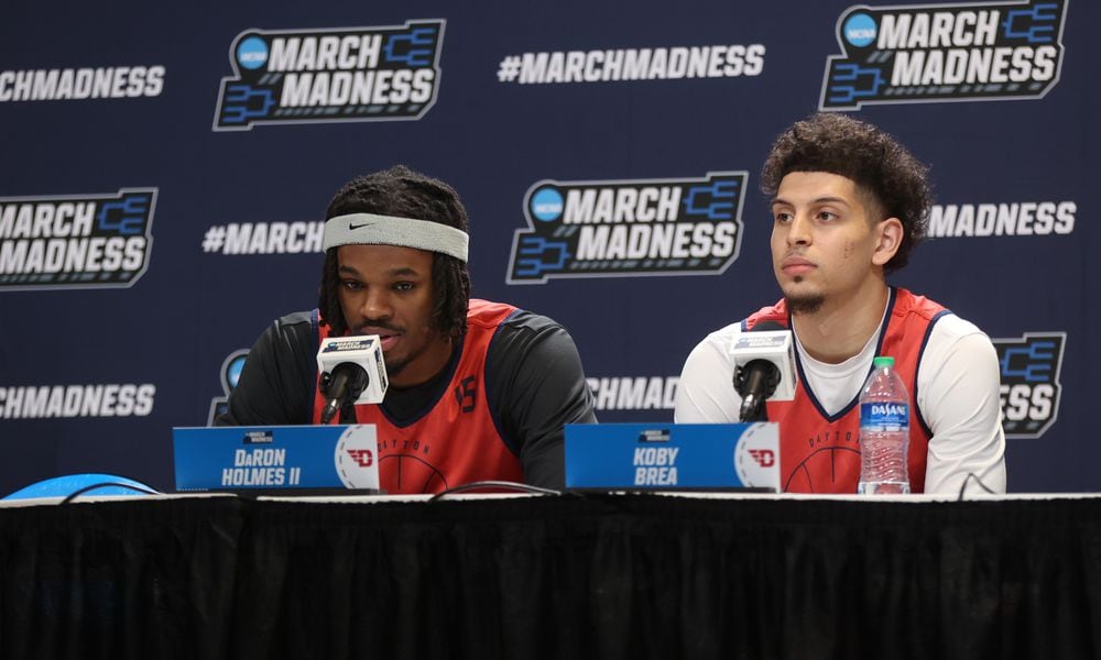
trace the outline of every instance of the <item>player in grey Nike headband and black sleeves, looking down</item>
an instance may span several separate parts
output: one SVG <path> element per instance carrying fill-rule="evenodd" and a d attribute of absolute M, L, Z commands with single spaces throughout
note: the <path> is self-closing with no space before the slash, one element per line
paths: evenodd
<path fill-rule="evenodd" d="M 596 421 L 577 348 L 546 317 L 471 299 L 468 241 L 443 182 L 396 166 L 347 184 L 326 212 L 318 309 L 257 340 L 218 424 L 317 424 L 319 342 L 378 334 L 386 396 L 339 421 L 377 425 L 388 493 L 563 486 L 563 427 Z"/>

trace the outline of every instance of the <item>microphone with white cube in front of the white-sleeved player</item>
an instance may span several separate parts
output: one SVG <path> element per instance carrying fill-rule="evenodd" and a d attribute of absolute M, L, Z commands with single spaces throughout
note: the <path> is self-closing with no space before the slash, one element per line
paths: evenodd
<path fill-rule="evenodd" d="M 776 321 L 762 321 L 730 346 L 734 359 L 734 389 L 742 397 L 741 421 L 767 421 L 765 399 L 795 398 L 798 376 L 792 331 Z"/>

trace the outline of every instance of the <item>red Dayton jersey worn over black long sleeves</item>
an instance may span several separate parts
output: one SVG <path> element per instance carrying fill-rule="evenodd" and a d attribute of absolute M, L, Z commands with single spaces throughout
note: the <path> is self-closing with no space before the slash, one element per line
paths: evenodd
<path fill-rule="evenodd" d="M 486 402 L 486 352 L 510 305 L 470 300 L 462 354 L 450 383 L 419 417 L 399 426 L 377 405 L 356 406 L 359 424 L 379 437 L 379 482 L 390 494 L 439 493 L 484 480 L 523 481 L 520 459 L 505 446 Z M 328 326 L 318 328 L 320 341 Z M 320 422 L 325 397 L 314 399 Z"/>

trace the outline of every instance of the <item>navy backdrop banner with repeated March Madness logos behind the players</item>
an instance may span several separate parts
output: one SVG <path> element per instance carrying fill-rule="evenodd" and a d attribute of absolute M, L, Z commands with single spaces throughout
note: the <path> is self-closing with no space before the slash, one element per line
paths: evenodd
<path fill-rule="evenodd" d="M 11 7 L 0 40 L 0 494 L 173 487 L 321 220 L 393 164 L 470 213 L 477 297 L 573 333 L 602 421 L 672 420 L 704 336 L 775 301 L 759 173 L 816 111 L 931 165 L 892 276 L 993 339 L 1010 490 L 1101 490 L 1101 8 L 854 3 Z"/>

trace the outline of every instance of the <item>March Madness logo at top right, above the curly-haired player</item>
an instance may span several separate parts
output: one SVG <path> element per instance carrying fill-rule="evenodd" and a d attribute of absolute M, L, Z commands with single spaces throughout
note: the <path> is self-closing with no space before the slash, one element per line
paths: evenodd
<path fill-rule="evenodd" d="M 1059 80 L 1066 0 L 849 8 L 821 110 L 1042 98 Z"/>

